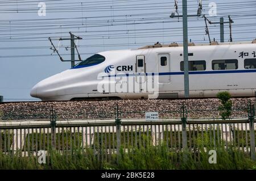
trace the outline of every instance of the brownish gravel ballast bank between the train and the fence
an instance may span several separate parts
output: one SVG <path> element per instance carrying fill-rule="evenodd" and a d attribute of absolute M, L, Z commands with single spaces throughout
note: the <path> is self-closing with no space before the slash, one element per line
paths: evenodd
<path fill-rule="evenodd" d="M 246 117 L 247 103 L 255 98 L 232 98 L 232 117 Z M 110 119 L 114 118 L 114 107 L 118 104 L 123 118 L 142 118 L 144 112 L 158 111 L 159 117 L 180 117 L 182 104 L 188 117 L 220 117 L 220 101 L 209 99 L 123 99 L 68 102 L 17 102 L 0 104 L 2 119 L 33 119 L 49 117 L 56 112 L 59 119 Z"/>

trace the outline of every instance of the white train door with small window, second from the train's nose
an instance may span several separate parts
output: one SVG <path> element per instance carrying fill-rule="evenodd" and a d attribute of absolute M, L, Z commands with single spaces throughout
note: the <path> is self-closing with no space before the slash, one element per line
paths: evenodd
<path fill-rule="evenodd" d="M 170 73 L 169 54 L 158 54 L 158 73 L 162 73 L 159 75 L 159 83 L 171 82 L 171 75 L 168 75 L 168 73 Z"/>

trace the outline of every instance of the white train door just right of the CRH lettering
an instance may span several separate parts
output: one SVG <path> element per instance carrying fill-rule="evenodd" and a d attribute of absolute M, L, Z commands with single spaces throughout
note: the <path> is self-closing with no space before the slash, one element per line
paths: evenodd
<path fill-rule="evenodd" d="M 140 87 L 142 83 L 146 83 L 146 63 L 145 63 L 145 57 L 143 55 L 139 55 L 136 57 L 136 82 L 140 84 Z M 140 91 L 146 91 L 140 88 Z"/>

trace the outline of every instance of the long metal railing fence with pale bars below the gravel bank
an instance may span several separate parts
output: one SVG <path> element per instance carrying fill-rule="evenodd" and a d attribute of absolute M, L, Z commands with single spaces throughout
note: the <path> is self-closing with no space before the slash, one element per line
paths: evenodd
<path fill-rule="evenodd" d="M 183 107 L 179 118 L 159 121 L 124 119 L 118 107 L 107 120 L 61 119 L 52 109 L 43 119 L 0 121 L 0 152 L 31 156 L 38 155 L 39 150 L 71 153 L 91 148 L 98 157 L 108 159 L 118 154 L 119 148 L 132 154 L 131 148 L 164 144 L 175 153 L 190 151 L 196 156 L 201 140 L 205 149 L 206 142 L 213 148 L 232 146 L 255 160 L 254 109 L 250 108 L 247 117 L 222 120 L 190 118 Z"/>

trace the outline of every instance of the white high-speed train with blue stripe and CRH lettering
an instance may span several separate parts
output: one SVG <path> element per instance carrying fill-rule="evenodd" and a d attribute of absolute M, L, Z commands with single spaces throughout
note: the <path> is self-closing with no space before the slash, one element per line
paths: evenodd
<path fill-rule="evenodd" d="M 30 95 L 42 100 L 184 98 L 182 46 L 157 43 L 97 53 L 39 82 Z M 255 52 L 256 39 L 189 43 L 189 97 L 214 97 L 219 91 L 255 96 Z"/>

